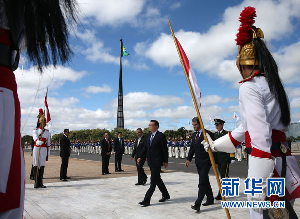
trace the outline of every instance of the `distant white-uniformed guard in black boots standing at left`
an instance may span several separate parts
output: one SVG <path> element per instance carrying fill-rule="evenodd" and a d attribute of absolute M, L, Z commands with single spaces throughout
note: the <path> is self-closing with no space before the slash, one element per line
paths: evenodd
<path fill-rule="evenodd" d="M 33 148 L 33 174 L 34 180 L 36 181 L 34 188 L 45 188 L 46 186 L 42 183 L 44 174 L 46 159 L 50 155 L 51 136 L 48 129 L 45 129 L 46 119 L 43 116 L 39 118 L 39 128 L 36 128 L 32 132 L 33 140 L 35 141 Z M 42 130 L 43 128 L 43 130 Z M 39 160 L 38 160 L 39 157 Z M 37 166 L 38 165 L 38 166 Z M 37 174 L 37 180 L 36 180 Z"/>

